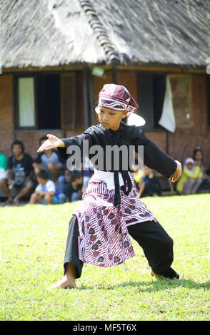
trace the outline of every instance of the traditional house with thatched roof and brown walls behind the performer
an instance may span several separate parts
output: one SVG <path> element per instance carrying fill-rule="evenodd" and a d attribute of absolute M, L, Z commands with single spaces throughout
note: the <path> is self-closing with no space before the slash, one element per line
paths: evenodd
<path fill-rule="evenodd" d="M 0 152 L 19 139 L 35 157 L 41 136 L 82 133 L 104 83 L 119 83 L 156 145 L 182 163 L 199 145 L 210 165 L 209 31 L 209 0 L 3 1 Z M 174 133 L 159 125 L 166 76 Z"/>

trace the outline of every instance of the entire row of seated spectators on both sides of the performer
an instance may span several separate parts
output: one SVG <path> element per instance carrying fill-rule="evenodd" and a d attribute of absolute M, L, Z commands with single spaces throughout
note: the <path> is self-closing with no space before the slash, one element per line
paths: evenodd
<path fill-rule="evenodd" d="M 47 139 L 42 137 L 39 145 Z M 6 195 L 6 204 L 19 204 L 26 197 L 31 204 L 43 205 L 81 200 L 94 173 L 88 158 L 81 159 L 80 170 L 74 167 L 68 170 L 56 150 L 39 153 L 33 160 L 19 140 L 12 143 L 11 153 L 9 158 L 0 153 L 0 187 Z M 181 177 L 176 182 L 177 194 L 210 191 L 210 168 L 204 167 L 203 160 L 204 154 L 199 147 L 194 149 L 192 158 L 186 158 Z M 139 197 L 162 194 L 159 177 L 146 165 L 141 170 L 136 160 L 132 175 Z"/>

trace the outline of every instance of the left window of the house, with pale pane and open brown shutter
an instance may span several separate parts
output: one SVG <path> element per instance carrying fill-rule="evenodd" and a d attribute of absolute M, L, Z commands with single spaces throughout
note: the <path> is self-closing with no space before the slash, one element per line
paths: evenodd
<path fill-rule="evenodd" d="M 75 128 L 75 73 L 14 75 L 16 128 Z"/>

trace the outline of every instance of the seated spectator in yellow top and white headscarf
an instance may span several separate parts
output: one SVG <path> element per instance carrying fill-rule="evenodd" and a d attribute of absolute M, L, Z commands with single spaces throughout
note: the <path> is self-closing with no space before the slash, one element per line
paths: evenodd
<path fill-rule="evenodd" d="M 194 194 L 199 189 L 201 182 L 200 166 L 195 165 L 192 158 L 186 158 L 181 177 L 176 185 L 176 191 L 184 195 Z"/>

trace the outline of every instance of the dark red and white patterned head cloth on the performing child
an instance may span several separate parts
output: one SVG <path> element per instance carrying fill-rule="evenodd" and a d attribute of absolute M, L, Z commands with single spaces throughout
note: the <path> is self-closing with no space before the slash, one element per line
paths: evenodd
<path fill-rule="evenodd" d="M 129 91 L 121 85 L 106 84 L 99 93 L 99 107 L 109 108 L 112 110 L 128 110 L 133 113 L 137 105 Z"/>

